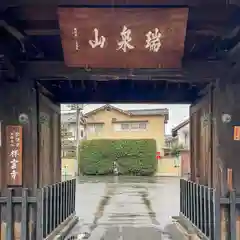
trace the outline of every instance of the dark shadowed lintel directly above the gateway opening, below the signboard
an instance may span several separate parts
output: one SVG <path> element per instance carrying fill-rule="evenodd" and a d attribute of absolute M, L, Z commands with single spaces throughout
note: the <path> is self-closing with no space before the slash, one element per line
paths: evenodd
<path fill-rule="evenodd" d="M 85 81 L 69 87 L 67 81 L 49 86 L 49 82 L 40 81 L 61 103 L 192 103 L 198 98 L 200 88 L 190 88 L 188 84 L 166 84 L 159 81 Z M 134 83 L 134 85 L 133 85 Z"/>

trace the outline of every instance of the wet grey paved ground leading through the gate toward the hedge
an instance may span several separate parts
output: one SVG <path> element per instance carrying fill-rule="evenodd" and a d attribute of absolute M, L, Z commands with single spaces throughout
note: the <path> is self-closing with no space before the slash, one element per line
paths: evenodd
<path fill-rule="evenodd" d="M 171 216 L 179 213 L 179 179 L 80 178 L 76 211 L 84 225 L 72 234 L 89 240 L 175 239 Z"/>

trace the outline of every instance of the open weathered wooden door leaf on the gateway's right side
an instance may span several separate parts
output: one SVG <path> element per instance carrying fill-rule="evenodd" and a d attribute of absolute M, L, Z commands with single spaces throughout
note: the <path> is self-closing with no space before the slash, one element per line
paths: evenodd
<path fill-rule="evenodd" d="M 190 126 L 192 180 L 212 187 L 212 119 L 208 95 L 191 105 Z"/>

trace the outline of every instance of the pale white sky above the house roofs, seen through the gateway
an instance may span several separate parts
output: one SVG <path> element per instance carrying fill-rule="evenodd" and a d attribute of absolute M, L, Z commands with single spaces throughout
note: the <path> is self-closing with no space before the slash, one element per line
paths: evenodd
<path fill-rule="evenodd" d="M 84 113 L 92 111 L 96 108 L 103 106 L 104 104 L 86 104 L 84 107 Z M 168 108 L 169 121 L 166 125 L 165 134 L 171 134 L 173 127 L 177 126 L 182 121 L 189 118 L 189 104 L 112 104 L 115 107 L 123 110 L 128 109 L 153 109 L 153 108 Z M 66 105 L 61 106 L 62 111 L 67 110 Z"/>

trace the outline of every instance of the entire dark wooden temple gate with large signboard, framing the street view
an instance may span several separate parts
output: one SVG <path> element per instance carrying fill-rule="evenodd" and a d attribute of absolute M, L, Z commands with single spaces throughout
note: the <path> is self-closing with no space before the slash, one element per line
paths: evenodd
<path fill-rule="evenodd" d="M 0 13 L 1 239 L 74 220 L 75 181 L 60 179 L 59 107 L 72 102 L 192 104 L 181 216 L 239 239 L 238 1 L 16 0 Z"/>

